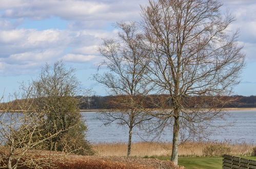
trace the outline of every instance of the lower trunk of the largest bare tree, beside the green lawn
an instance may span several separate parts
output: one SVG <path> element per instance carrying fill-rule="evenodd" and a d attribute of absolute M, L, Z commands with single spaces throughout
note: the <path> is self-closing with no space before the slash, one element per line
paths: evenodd
<path fill-rule="evenodd" d="M 179 116 L 176 116 L 174 117 L 172 152 L 171 152 L 171 161 L 174 162 L 174 164 L 176 165 L 178 165 L 179 131 L 180 131 L 180 121 L 179 121 Z"/>

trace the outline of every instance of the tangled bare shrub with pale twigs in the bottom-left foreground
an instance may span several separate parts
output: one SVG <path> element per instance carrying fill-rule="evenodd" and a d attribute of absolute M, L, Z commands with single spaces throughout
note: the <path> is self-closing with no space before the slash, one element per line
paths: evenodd
<path fill-rule="evenodd" d="M 33 100 L 28 98 L 27 94 L 23 93 L 23 99 L 17 103 L 18 110 L 13 109 L 13 102 L 10 100 L 6 104 L 1 104 L 1 168 L 54 167 L 54 161 L 63 158 L 63 156 L 55 156 L 54 160 L 52 159 L 54 152 L 45 152 L 46 149 L 38 150 L 38 146 L 49 142 L 53 137 L 64 131 L 45 132 L 43 120 L 40 118 L 45 112 L 36 112 L 32 107 Z"/>

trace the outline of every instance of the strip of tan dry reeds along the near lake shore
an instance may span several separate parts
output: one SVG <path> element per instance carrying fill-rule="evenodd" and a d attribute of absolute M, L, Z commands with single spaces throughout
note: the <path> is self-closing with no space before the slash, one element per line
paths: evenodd
<path fill-rule="evenodd" d="M 230 144 L 228 142 L 186 142 L 179 146 L 180 156 L 204 156 L 203 150 L 207 146 L 230 147 L 232 155 L 250 155 L 253 145 L 251 144 Z M 255 145 L 254 145 L 255 146 Z M 168 156 L 171 153 L 171 143 L 165 142 L 138 142 L 132 143 L 131 156 Z M 99 156 L 126 156 L 126 143 L 99 143 L 94 144 L 94 149 Z"/>

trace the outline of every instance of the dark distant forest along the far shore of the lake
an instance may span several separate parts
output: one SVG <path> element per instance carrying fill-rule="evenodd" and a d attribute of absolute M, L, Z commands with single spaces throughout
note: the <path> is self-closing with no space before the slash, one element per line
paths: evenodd
<path fill-rule="evenodd" d="M 126 96 L 76 96 L 76 98 L 79 100 L 78 107 L 81 110 L 90 110 L 90 109 L 120 109 L 118 105 L 118 101 L 116 100 L 126 100 Z M 225 108 L 256 108 L 256 96 L 219 96 L 219 100 L 230 100 L 230 98 L 233 100 L 232 102 L 228 102 L 225 104 Z M 157 105 L 161 105 L 161 107 L 171 108 L 171 100 L 168 100 L 168 95 L 150 95 L 150 96 L 139 96 L 138 98 L 141 100 L 141 103 L 143 104 L 144 108 L 153 109 L 157 108 Z M 214 98 L 205 97 L 201 99 L 200 97 L 186 97 L 184 100 L 184 107 L 189 108 L 195 108 L 196 104 L 200 101 L 205 102 L 205 107 L 207 108 L 208 105 L 211 105 L 211 102 Z M 165 100 L 165 102 L 163 101 Z M 167 100 L 167 101 L 166 101 Z M 13 100 L 8 103 L 1 103 L 0 109 L 3 109 L 7 107 L 7 104 L 9 104 L 9 108 L 11 107 L 13 110 L 19 110 L 18 102 L 20 100 Z M 153 102 L 153 103 L 152 103 Z M 217 105 L 218 107 L 218 105 Z"/>

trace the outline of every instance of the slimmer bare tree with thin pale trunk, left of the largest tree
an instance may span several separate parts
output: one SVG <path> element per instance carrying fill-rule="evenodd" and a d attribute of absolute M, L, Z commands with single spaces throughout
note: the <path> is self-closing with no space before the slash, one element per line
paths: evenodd
<path fill-rule="evenodd" d="M 131 137 L 134 126 L 140 124 L 148 117 L 142 112 L 144 95 L 150 87 L 144 78 L 147 74 L 148 61 L 144 55 L 146 51 L 141 49 L 142 36 L 137 30 L 135 23 L 118 23 L 117 28 L 121 29 L 119 41 L 108 39 L 100 47 L 101 54 L 106 58 L 102 65 L 107 66 L 109 73 L 96 74 L 96 81 L 107 87 L 111 94 L 113 111 L 102 112 L 102 119 L 105 124 L 117 121 L 118 124 L 127 125 L 129 128 L 127 156 L 131 152 Z"/>

